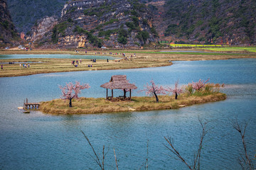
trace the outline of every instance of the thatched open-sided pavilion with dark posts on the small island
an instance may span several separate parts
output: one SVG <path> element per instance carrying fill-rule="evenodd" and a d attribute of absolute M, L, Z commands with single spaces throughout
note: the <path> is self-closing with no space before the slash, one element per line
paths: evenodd
<path fill-rule="evenodd" d="M 114 75 L 111 77 L 110 82 L 102 84 L 101 87 L 105 89 L 111 89 L 112 96 L 106 97 L 107 101 L 131 101 L 132 96 L 132 89 L 137 89 L 137 86 L 134 84 L 130 84 L 127 80 L 126 75 Z M 114 98 L 113 90 L 114 89 L 121 89 L 124 91 L 124 96 L 119 96 Z M 129 97 L 126 96 L 127 90 L 129 90 Z"/>

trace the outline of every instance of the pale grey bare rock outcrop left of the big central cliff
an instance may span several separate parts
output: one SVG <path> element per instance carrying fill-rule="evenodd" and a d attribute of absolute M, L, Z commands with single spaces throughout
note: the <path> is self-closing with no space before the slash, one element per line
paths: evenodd
<path fill-rule="evenodd" d="M 58 18 L 55 16 L 46 16 L 39 20 L 36 26 L 31 28 L 31 31 L 27 33 L 26 40 L 41 42 L 47 41 L 51 38 L 51 31 L 54 26 L 58 23 Z"/>

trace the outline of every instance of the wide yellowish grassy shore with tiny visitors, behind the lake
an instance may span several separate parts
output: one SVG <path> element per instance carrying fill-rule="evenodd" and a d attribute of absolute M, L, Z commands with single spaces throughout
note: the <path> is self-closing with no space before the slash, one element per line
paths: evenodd
<path fill-rule="evenodd" d="M 172 61 L 192 61 L 192 60 L 228 60 L 237 58 L 256 58 L 255 48 L 252 51 L 233 51 L 233 48 L 228 48 L 228 52 L 221 51 L 223 48 L 215 48 L 220 50 L 218 52 L 209 52 L 201 49 L 193 49 L 198 52 L 189 52 L 189 50 L 177 50 L 167 49 L 162 50 L 0 50 L 0 62 L 4 63 L 4 69 L 0 72 L 0 77 L 18 77 L 27 76 L 31 74 L 42 74 L 52 72 L 77 72 L 77 71 L 89 71 L 89 70 L 102 70 L 102 69 L 135 69 L 145 67 L 162 67 L 171 65 Z M 210 50 L 210 49 L 207 49 Z M 87 52 L 85 54 L 85 51 Z M 80 61 L 80 55 L 95 56 L 95 52 L 100 52 L 100 55 L 116 57 L 116 60 L 97 60 L 97 62 L 91 62 L 91 60 L 82 60 L 82 63 L 78 64 L 78 67 L 74 67 L 71 64 L 72 60 Z M 112 52 L 114 55 L 110 55 Z M 124 60 L 122 53 L 125 53 L 126 57 L 131 57 L 129 60 Z M 116 55 L 118 53 L 118 55 Z M 26 59 L 1 59 L 2 55 L 28 55 Z M 74 55 L 72 59 L 53 59 L 53 58 L 30 58 L 30 55 Z M 136 54 L 136 55 L 134 55 Z M 97 55 L 98 56 L 98 55 Z M 14 62 L 15 64 L 8 64 Z M 30 63 L 29 68 L 20 67 L 19 63 Z M 88 67 L 88 64 L 92 64 L 93 67 Z"/>

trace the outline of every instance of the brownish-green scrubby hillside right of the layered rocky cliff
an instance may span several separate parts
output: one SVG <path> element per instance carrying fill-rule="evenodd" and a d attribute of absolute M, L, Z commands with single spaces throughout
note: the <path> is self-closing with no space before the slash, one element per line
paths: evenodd
<path fill-rule="evenodd" d="M 159 12 L 164 12 L 165 21 L 158 30 L 169 40 L 256 44 L 255 0 L 166 0 Z"/>

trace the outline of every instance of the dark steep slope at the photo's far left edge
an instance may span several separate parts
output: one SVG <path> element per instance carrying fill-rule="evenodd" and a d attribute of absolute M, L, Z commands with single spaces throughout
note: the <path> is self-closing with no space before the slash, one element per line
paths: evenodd
<path fill-rule="evenodd" d="M 6 0 L 0 0 L 0 45 L 18 45 L 18 40 Z"/>

